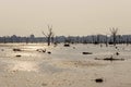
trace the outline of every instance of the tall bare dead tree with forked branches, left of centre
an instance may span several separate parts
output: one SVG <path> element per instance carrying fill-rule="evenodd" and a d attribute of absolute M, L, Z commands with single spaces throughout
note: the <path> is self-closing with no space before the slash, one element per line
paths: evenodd
<path fill-rule="evenodd" d="M 52 25 L 51 25 L 51 26 L 48 25 L 48 33 L 45 34 L 45 33 L 43 32 L 43 34 L 44 34 L 45 37 L 47 38 L 47 44 L 48 44 L 48 46 L 50 46 L 51 40 L 52 40 L 52 38 L 53 38 L 53 36 L 55 36 L 55 34 L 53 34 L 53 32 L 52 32 Z"/>

